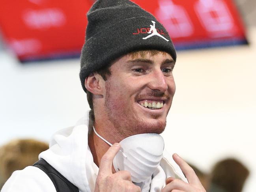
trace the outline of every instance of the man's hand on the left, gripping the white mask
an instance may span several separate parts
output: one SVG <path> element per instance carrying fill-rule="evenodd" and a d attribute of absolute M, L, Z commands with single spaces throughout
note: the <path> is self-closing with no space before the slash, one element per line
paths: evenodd
<path fill-rule="evenodd" d="M 140 187 L 131 182 L 129 171 L 112 173 L 113 159 L 120 150 L 120 144 L 115 143 L 101 158 L 99 173 L 96 179 L 95 192 L 140 192 Z"/>

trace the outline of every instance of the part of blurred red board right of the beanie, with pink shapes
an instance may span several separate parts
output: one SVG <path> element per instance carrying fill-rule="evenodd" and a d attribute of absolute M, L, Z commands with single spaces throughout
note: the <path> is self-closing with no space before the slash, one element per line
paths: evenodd
<path fill-rule="evenodd" d="M 132 0 L 152 13 L 177 49 L 247 44 L 232 0 Z"/>

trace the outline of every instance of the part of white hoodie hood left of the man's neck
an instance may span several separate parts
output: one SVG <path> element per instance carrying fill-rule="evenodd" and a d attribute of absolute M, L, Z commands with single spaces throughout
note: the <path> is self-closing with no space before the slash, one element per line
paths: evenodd
<path fill-rule="evenodd" d="M 89 112 L 74 127 L 56 132 L 50 148 L 39 155 L 59 171 L 80 192 L 94 191 L 99 168 L 88 146 Z"/>

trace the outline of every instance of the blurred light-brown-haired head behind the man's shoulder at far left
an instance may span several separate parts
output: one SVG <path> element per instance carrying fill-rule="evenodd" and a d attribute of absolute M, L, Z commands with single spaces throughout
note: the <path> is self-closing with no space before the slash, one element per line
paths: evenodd
<path fill-rule="evenodd" d="M 49 148 L 34 139 L 15 139 L 0 147 L 0 189 L 15 170 L 33 165 L 38 155 Z"/>

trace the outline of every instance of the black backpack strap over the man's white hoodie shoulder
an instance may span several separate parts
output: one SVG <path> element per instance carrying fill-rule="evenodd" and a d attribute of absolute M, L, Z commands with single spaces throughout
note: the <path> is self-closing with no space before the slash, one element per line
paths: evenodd
<path fill-rule="evenodd" d="M 62 174 L 47 163 L 46 160 L 41 158 L 33 166 L 41 169 L 48 175 L 50 180 L 52 180 L 57 192 L 79 192 L 75 185 L 73 185 Z"/>

